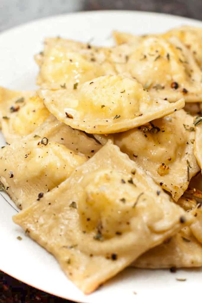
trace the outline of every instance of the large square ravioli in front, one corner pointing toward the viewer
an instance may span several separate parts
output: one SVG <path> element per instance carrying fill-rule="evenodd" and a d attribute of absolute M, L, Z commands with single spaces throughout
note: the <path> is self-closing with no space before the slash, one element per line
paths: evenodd
<path fill-rule="evenodd" d="M 193 217 L 109 141 L 13 220 L 88 294 Z"/>

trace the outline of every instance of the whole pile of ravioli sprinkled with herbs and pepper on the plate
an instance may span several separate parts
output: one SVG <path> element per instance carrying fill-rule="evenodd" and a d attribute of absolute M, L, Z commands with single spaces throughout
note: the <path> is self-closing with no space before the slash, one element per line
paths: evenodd
<path fill-rule="evenodd" d="M 38 91 L 0 88 L 13 220 L 86 294 L 131 265 L 202 266 L 202 29 L 114 38 L 47 38 Z"/>

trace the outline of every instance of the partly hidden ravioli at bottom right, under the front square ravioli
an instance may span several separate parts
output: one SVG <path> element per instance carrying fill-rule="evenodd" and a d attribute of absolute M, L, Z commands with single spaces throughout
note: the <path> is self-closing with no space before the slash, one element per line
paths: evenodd
<path fill-rule="evenodd" d="M 183 268 L 202 266 L 202 245 L 189 227 L 163 244 L 144 253 L 134 263 L 139 268 Z"/>

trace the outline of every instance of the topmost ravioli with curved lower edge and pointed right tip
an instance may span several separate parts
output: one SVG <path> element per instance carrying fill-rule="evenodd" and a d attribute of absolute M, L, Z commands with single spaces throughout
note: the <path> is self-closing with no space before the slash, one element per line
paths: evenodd
<path fill-rule="evenodd" d="M 48 110 L 61 122 L 88 133 L 116 133 L 143 125 L 184 107 L 154 99 L 136 80 L 103 76 L 72 90 L 41 90 Z"/>

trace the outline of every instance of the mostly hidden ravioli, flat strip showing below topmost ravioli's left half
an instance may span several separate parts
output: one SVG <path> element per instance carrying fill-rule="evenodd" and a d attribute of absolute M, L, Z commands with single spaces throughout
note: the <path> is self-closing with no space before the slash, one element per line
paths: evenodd
<path fill-rule="evenodd" d="M 96 142 L 94 138 L 58 121 L 53 115 L 50 115 L 43 124 L 28 135 L 27 140 L 33 138 L 41 140 L 43 137 L 48 138 L 49 141 L 65 145 L 76 154 L 84 154 L 88 158 L 91 158 L 101 148 L 101 144 Z"/>

